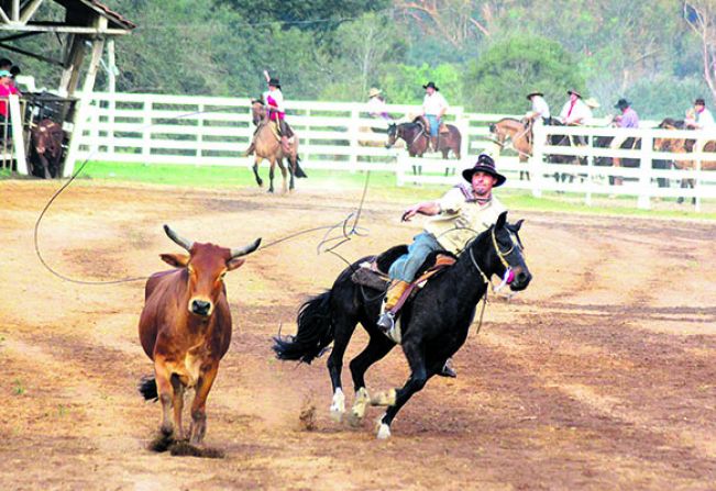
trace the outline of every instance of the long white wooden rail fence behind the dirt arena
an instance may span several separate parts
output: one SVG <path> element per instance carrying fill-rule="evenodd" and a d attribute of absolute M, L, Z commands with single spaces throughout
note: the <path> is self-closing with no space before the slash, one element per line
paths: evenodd
<path fill-rule="evenodd" d="M 488 125 L 507 116 L 503 114 L 465 113 L 451 108 L 449 123 L 455 124 L 462 135 L 462 161 L 442 160 L 428 156 L 416 159 L 403 148 L 385 148 L 387 123 L 367 115 L 363 103 L 293 101 L 286 104 L 288 121 L 300 137 L 299 154 L 305 168 L 332 170 L 387 170 L 396 172 L 398 185 L 450 183 L 459 179 L 459 170 L 470 166 L 477 154 L 495 154 Z M 419 111 L 417 107 L 389 105 L 394 118 L 404 118 Z M 653 126 L 646 122 L 643 126 Z M 251 166 L 253 157 L 243 157 L 253 134 L 251 108 L 247 99 L 190 96 L 155 96 L 130 93 L 95 93 L 84 125 L 77 159 L 136 161 L 144 164 L 189 164 Z M 548 146 L 549 134 L 584 135 L 592 143 L 598 136 L 617 134 L 642 138 L 641 150 L 616 150 L 587 146 Z M 690 155 L 697 160 L 694 170 L 653 169 L 654 159 L 680 160 L 683 154 L 653 150 L 653 140 L 660 137 L 700 138 L 700 132 L 669 130 L 616 130 L 610 127 L 544 126 L 535 134 L 535 155 L 528 164 L 517 157 L 502 156 L 500 171 L 508 176 L 507 187 L 528 189 L 535 196 L 544 191 L 582 193 L 591 204 L 597 193 L 637 197 L 640 208 L 649 208 L 656 197 L 694 198 L 696 208 L 702 199 L 716 198 L 716 171 L 701 170 L 701 161 L 716 161 L 716 154 Z M 549 156 L 580 156 L 586 165 L 550 163 Z M 432 158 L 431 158 L 432 157 Z M 638 168 L 598 167 L 596 157 L 639 158 Z M 575 159 L 576 160 L 576 159 Z M 414 166 L 422 167 L 421 174 Z M 65 166 L 71 174 L 74 163 Z M 520 180 L 520 172 L 529 171 L 530 180 Z M 572 181 L 557 181 L 551 176 L 576 176 Z M 623 177 L 621 186 L 609 185 L 609 176 Z M 524 177 L 526 177 L 524 175 Z M 672 187 L 659 188 L 657 178 L 669 179 Z M 695 180 L 694 189 L 680 189 L 679 182 Z"/>

